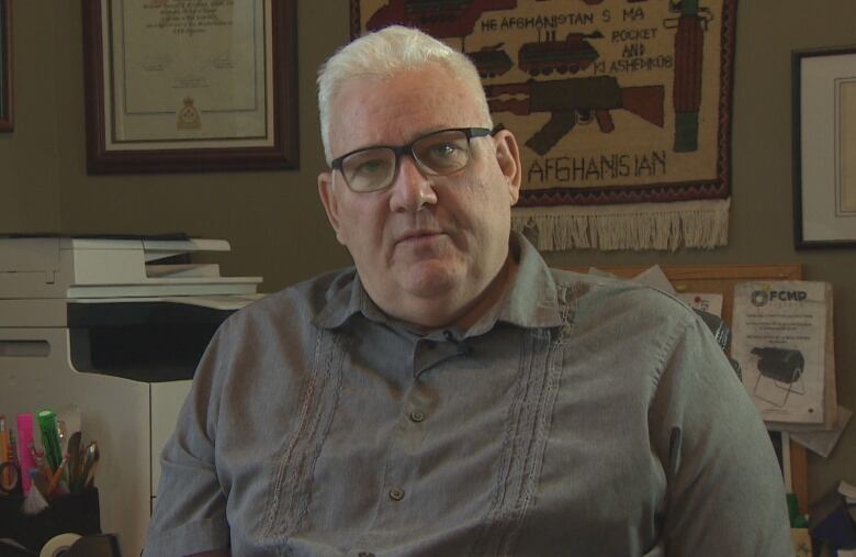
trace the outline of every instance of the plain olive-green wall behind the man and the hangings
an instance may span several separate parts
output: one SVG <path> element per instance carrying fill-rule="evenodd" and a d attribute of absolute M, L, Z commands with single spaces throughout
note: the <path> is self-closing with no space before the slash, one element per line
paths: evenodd
<path fill-rule="evenodd" d="M 0 233 L 167 233 L 232 242 L 225 275 L 272 291 L 345 265 L 317 200 L 324 166 L 315 70 L 348 40 L 347 2 L 299 0 L 301 169 L 87 176 L 80 2 L 14 1 L 15 131 L 0 134 Z M 556 266 L 801 263 L 835 290 L 838 399 L 856 408 L 856 249 L 795 250 L 790 52 L 856 43 L 853 0 L 741 0 L 729 246 L 710 252 L 549 254 Z M 856 483 L 856 426 L 829 460 L 809 456 L 811 499 Z"/>

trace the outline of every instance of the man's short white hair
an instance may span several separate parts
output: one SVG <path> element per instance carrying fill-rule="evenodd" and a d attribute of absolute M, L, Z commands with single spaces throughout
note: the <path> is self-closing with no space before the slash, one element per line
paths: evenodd
<path fill-rule="evenodd" d="M 421 31 L 392 25 L 345 45 L 318 70 L 318 110 L 327 163 L 333 160 L 330 105 L 346 81 L 365 77 L 387 79 L 431 63 L 446 68 L 472 92 L 473 101 L 482 112 L 483 125 L 493 127 L 478 71 L 470 58 Z"/>

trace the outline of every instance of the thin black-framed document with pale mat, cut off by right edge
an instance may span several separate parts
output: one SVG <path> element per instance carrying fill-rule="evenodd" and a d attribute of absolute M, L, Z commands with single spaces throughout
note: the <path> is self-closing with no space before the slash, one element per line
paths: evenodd
<path fill-rule="evenodd" d="M 791 62 L 795 245 L 856 246 L 856 46 Z"/>

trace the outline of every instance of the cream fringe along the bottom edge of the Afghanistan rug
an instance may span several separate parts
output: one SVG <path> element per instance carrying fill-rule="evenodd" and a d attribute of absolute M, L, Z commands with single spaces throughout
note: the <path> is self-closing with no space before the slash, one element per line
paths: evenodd
<path fill-rule="evenodd" d="M 521 208 L 511 227 L 539 249 L 712 249 L 728 245 L 731 201 Z"/>

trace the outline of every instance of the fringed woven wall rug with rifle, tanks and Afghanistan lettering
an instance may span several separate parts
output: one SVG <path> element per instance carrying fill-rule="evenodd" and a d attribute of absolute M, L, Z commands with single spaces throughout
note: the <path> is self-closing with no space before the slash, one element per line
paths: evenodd
<path fill-rule="evenodd" d="M 541 249 L 728 243 L 736 0 L 351 0 L 466 53 L 517 135 Z"/>

